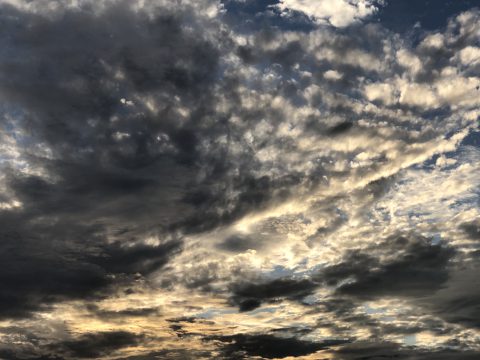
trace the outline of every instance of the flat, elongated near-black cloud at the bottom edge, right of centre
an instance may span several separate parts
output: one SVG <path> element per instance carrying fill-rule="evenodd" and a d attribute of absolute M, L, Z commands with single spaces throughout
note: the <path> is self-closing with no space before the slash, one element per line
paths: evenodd
<path fill-rule="evenodd" d="M 330 346 L 347 342 L 346 340 L 305 341 L 296 338 L 282 338 L 269 334 L 237 334 L 231 336 L 212 336 L 208 340 L 217 340 L 223 346 L 224 356 L 228 359 L 249 359 L 260 356 L 266 359 L 283 359 L 313 354 Z"/>

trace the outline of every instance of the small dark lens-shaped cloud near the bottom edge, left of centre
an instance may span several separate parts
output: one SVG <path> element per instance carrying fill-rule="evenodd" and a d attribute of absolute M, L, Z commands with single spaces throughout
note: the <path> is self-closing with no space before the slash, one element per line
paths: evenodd
<path fill-rule="evenodd" d="M 73 358 L 95 359 L 127 346 L 135 346 L 143 336 L 126 331 L 111 331 L 84 334 L 78 339 L 68 340 L 50 345 L 57 353 Z"/>

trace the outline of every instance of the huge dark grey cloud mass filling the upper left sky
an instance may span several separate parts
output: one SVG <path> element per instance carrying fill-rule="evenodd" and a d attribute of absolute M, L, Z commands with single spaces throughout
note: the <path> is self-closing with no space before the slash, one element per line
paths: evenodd
<path fill-rule="evenodd" d="M 47 17 L 0 6 L 0 94 L 6 114 L 21 114 L 23 156 L 47 175 L 4 169 L 22 207 L 0 213 L 0 316 L 22 317 L 101 296 L 112 274 L 148 275 L 181 250 L 176 239 L 141 240 L 164 238 L 192 208 L 181 199 L 218 51 L 182 25 L 192 9 L 147 14 L 116 2 Z M 126 103 L 146 94 L 157 115 Z M 191 110 L 184 125 L 177 106 Z M 51 156 L 32 150 L 40 145 Z"/>

